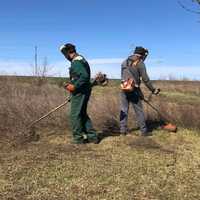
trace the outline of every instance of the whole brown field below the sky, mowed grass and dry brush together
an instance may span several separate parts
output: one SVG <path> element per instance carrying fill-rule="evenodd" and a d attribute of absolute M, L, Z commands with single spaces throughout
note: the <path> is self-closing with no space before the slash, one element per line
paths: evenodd
<path fill-rule="evenodd" d="M 62 81 L 0 78 L 0 199 L 200 199 L 200 82 L 155 82 L 162 92 L 151 102 L 176 134 L 144 105 L 153 137 L 139 136 L 132 110 L 131 132 L 119 136 L 119 82 L 111 81 L 94 88 L 89 105 L 105 136 L 99 145 L 70 144 L 69 106 L 37 125 L 38 142 L 24 142 L 26 126 L 66 99 Z"/>

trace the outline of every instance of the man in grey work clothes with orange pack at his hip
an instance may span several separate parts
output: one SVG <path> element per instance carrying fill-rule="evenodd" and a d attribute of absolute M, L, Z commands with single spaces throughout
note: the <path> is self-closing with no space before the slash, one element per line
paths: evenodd
<path fill-rule="evenodd" d="M 159 89 L 156 89 L 149 79 L 146 72 L 146 67 L 144 60 L 148 55 L 148 50 L 143 47 L 136 47 L 134 54 L 128 57 L 122 63 L 121 69 L 121 79 L 122 86 L 124 83 L 130 82 L 133 84 L 134 88 L 132 91 L 127 91 L 126 88 L 122 89 L 121 92 L 121 112 L 120 112 L 120 131 L 122 135 L 126 135 L 127 120 L 128 120 L 128 110 L 129 104 L 131 103 L 135 113 L 138 125 L 140 127 L 143 136 L 148 136 L 148 129 L 145 122 L 145 115 L 142 107 L 141 100 L 143 99 L 143 94 L 140 90 L 141 79 L 143 80 L 146 87 L 153 93 L 158 94 Z M 125 86 L 127 87 L 127 85 Z M 131 86 L 132 87 L 132 86 Z"/>

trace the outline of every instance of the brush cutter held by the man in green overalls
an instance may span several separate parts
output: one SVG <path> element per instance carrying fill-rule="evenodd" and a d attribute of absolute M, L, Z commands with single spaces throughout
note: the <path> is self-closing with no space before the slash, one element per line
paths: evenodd
<path fill-rule="evenodd" d="M 106 86 L 108 84 L 108 78 L 106 76 L 106 74 L 102 74 L 101 72 L 99 72 L 96 76 L 95 79 L 93 80 L 93 82 L 91 83 L 91 87 L 94 86 Z M 31 124 L 29 124 L 27 126 L 27 129 L 30 130 L 29 132 L 29 140 L 31 141 L 38 141 L 39 140 L 39 135 L 36 135 L 35 133 L 35 125 L 37 123 L 39 123 L 41 120 L 47 118 L 49 115 L 51 115 L 52 113 L 56 112 L 57 110 L 59 110 L 60 108 L 64 107 L 65 105 L 67 105 L 71 100 L 71 96 L 67 97 L 66 101 L 63 102 L 62 104 L 58 105 L 57 107 L 53 108 L 51 111 L 49 111 L 48 113 L 46 113 L 45 115 L 43 115 L 42 117 L 40 117 L 39 119 L 33 121 Z"/>

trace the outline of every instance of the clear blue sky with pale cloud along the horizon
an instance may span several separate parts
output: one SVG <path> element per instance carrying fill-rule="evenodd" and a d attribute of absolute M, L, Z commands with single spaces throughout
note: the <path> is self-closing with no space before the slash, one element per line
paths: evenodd
<path fill-rule="evenodd" d="M 165 2 L 165 3 L 164 3 Z M 182 0 L 194 8 L 190 0 Z M 153 79 L 200 79 L 200 16 L 175 0 L 7 0 L 0 6 L 0 72 L 31 74 L 34 46 L 50 75 L 66 75 L 69 63 L 59 52 L 66 42 L 91 63 L 93 74 L 118 78 L 120 63 L 137 45 L 150 50 Z"/>

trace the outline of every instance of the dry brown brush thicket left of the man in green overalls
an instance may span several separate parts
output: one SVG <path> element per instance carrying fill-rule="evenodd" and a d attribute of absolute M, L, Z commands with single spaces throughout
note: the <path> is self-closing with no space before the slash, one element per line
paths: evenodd
<path fill-rule="evenodd" d="M 56 85 L 44 84 L 42 87 L 20 83 L 17 79 L 1 79 L 0 90 L 0 129 L 12 134 L 23 131 L 33 120 L 65 100 L 64 91 Z M 40 126 L 66 126 L 66 110 L 54 113 Z"/>

